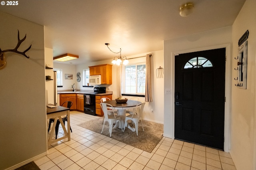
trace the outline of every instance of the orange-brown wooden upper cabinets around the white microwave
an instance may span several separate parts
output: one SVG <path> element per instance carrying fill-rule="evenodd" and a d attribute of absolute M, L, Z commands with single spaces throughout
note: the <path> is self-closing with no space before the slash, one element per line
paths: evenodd
<path fill-rule="evenodd" d="M 112 65 L 89 66 L 90 76 L 101 75 L 101 84 L 112 84 Z"/>

